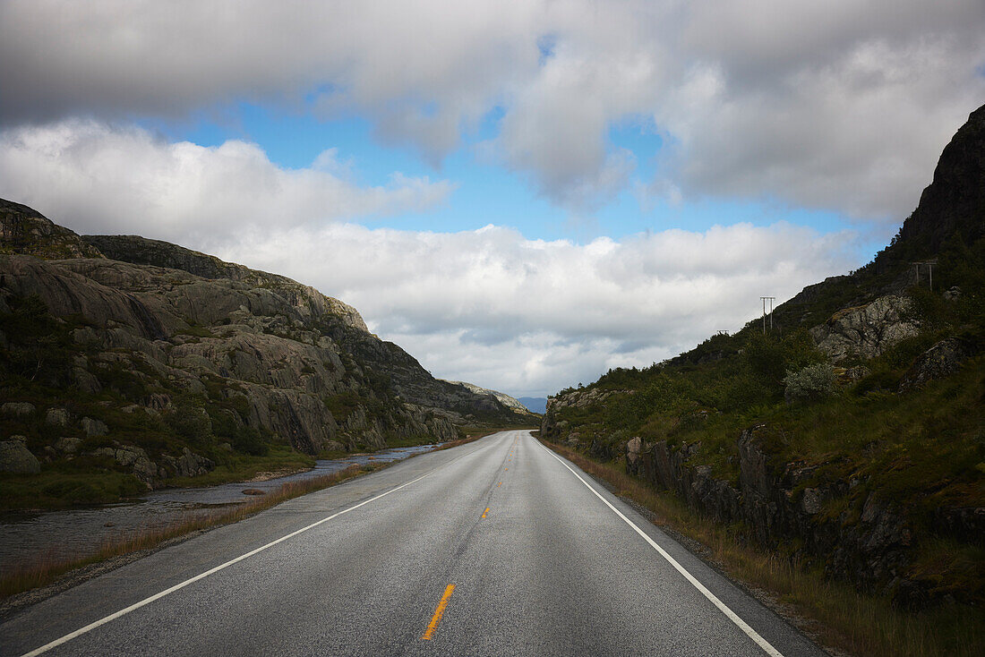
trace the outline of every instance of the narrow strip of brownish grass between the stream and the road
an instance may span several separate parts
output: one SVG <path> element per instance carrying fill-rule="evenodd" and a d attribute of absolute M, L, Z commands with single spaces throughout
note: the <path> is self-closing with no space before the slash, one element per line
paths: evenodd
<path fill-rule="evenodd" d="M 151 550 L 160 546 L 164 541 L 184 536 L 194 531 L 236 522 L 288 499 L 335 486 L 346 480 L 358 477 L 365 472 L 372 472 L 381 467 L 385 466 L 354 465 L 330 475 L 299 482 L 288 482 L 282 485 L 277 491 L 237 504 L 231 508 L 217 509 L 214 513 L 206 516 L 179 520 L 167 527 L 138 532 L 128 537 L 113 540 L 90 555 L 68 558 L 47 556 L 31 562 L 18 564 L 18 567 L 13 572 L 0 579 L 0 600 L 16 593 L 21 593 L 22 591 L 50 584 L 70 570 L 84 565 L 141 550 Z"/>

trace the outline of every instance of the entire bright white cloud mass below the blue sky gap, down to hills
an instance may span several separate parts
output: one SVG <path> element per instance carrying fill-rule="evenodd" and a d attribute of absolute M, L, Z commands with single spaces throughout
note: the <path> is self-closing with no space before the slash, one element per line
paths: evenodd
<path fill-rule="evenodd" d="M 487 226 L 371 229 L 350 220 L 427 207 L 450 183 L 348 181 L 352 163 L 271 164 L 254 144 L 170 144 L 66 121 L 0 133 L 0 196 L 79 232 L 134 232 L 283 273 L 354 304 L 435 375 L 515 394 L 645 365 L 855 264 L 852 235 L 788 224 L 666 230 L 585 244 Z"/>

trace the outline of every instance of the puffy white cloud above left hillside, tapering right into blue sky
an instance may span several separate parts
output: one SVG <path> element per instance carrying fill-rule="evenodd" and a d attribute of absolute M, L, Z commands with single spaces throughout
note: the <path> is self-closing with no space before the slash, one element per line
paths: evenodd
<path fill-rule="evenodd" d="M 139 228 L 147 237 L 207 245 L 256 226 L 284 230 L 425 210 L 454 188 L 399 172 L 388 185 L 361 187 L 337 155 L 329 150 L 310 167 L 290 169 L 256 144 L 206 148 L 140 128 L 66 120 L 0 133 L 0 196 L 83 231 Z"/>

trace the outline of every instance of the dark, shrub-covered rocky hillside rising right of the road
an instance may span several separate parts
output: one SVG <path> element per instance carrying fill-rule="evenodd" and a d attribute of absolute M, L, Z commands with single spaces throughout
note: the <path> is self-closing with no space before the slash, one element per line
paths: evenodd
<path fill-rule="evenodd" d="M 543 435 L 901 606 L 980 607 L 985 107 L 892 243 L 773 326 L 561 391 Z"/>

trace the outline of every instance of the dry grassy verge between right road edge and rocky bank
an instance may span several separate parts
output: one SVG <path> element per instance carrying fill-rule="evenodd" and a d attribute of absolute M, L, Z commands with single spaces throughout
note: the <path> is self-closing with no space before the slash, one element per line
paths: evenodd
<path fill-rule="evenodd" d="M 769 592 L 807 620 L 821 643 L 871 657 L 971 657 L 985 654 L 985 612 L 962 605 L 922 612 L 900 611 L 884 598 L 824 579 L 783 555 L 757 550 L 741 530 L 714 523 L 677 497 L 657 493 L 623 470 L 602 464 L 561 445 L 542 440 L 585 472 L 612 485 L 617 494 L 648 508 L 655 524 L 700 543 L 706 558 L 738 580 Z"/>

